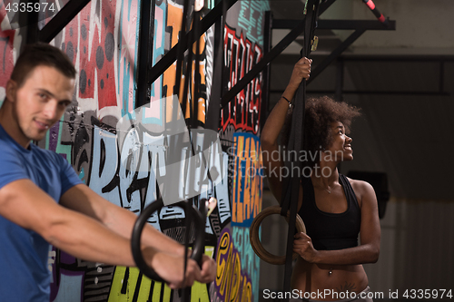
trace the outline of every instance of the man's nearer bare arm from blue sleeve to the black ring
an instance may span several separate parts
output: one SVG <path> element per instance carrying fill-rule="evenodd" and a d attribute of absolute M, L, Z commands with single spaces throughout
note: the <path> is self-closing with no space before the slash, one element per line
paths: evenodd
<path fill-rule="evenodd" d="M 0 214 L 77 258 L 134 266 L 128 240 L 95 219 L 60 207 L 31 180 L 15 180 L 0 190 Z M 117 249 L 117 251 L 115 251 Z"/>

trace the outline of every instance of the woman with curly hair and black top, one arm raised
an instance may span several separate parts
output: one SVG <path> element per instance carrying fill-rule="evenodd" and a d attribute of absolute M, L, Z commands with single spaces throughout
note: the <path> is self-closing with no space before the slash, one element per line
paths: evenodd
<path fill-rule="evenodd" d="M 280 203 L 283 173 L 276 171 L 285 169 L 281 160 L 286 157 L 278 137 L 291 124 L 288 112 L 296 101 L 292 99 L 310 73 L 311 60 L 302 58 L 295 64 L 291 80 L 262 130 L 263 166 L 271 192 Z M 359 115 L 355 107 L 326 96 L 306 102 L 303 150 L 298 155 L 304 161 L 298 213 L 307 234 L 294 237 L 293 251 L 300 257 L 291 276 L 291 286 L 306 301 L 371 301 L 362 264 L 376 262 L 380 254 L 375 192 L 369 183 L 351 180 L 337 169 L 341 161 L 353 160 L 348 133 L 352 119 Z M 282 136 L 285 143 L 285 134 Z M 281 156 L 270 156 L 276 152 Z"/>

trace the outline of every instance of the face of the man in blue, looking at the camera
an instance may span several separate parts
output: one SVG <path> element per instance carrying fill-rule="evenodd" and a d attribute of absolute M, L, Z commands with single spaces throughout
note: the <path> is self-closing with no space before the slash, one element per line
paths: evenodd
<path fill-rule="evenodd" d="M 22 87 L 10 81 L 8 98 L 13 102 L 18 128 L 15 140 L 25 145 L 31 140 L 42 140 L 71 103 L 74 82 L 54 67 L 44 65 L 35 67 Z"/>

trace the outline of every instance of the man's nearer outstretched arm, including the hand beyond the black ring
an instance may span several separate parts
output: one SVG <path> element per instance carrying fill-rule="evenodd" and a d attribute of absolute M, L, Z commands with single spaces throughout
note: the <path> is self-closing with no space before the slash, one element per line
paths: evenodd
<path fill-rule="evenodd" d="M 60 206 L 31 180 L 15 180 L 0 189 L 0 215 L 22 228 L 34 230 L 76 258 L 135 266 L 129 239 L 92 217 Z M 188 261 L 183 283 L 183 257 L 150 247 L 143 247 L 143 256 L 172 288 L 192 286 L 194 279 L 204 281 L 192 259 Z"/>

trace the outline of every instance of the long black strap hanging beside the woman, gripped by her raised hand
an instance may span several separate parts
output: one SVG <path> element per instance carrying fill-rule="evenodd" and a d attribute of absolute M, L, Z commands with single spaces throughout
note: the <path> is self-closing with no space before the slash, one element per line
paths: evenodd
<path fill-rule="evenodd" d="M 308 57 L 311 54 L 311 41 L 316 27 L 318 17 L 318 7 L 320 0 L 308 0 L 306 3 L 306 18 L 304 24 L 304 46 L 301 50 L 301 57 Z M 298 209 L 298 198 L 300 193 L 301 178 L 300 175 L 294 175 L 294 172 L 302 172 L 302 162 L 298 161 L 298 154 L 303 150 L 303 127 L 304 127 L 304 107 L 306 105 L 306 81 L 301 81 L 300 87 L 295 94 L 295 104 L 293 116 L 291 119 L 291 134 L 287 151 L 296 151 L 296 157 L 286 162 L 286 169 L 290 169 L 290 180 L 284 180 L 281 197 L 281 215 L 286 216 L 290 209 L 289 230 L 287 236 L 287 250 L 285 261 L 284 291 L 291 291 L 291 264 L 293 253 L 293 236 L 296 225 L 296 211 Z M 289 196 L 290 195 L 290 196 Z M 283 301 L 289 301 L 285 297 Z"/>

